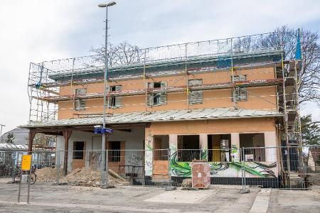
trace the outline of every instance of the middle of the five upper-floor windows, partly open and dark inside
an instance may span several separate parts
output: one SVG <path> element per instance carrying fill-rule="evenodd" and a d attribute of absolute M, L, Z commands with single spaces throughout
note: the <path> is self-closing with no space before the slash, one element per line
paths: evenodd
<path fill-rule="evenodd" d="M 166 104 L 166 92 L 157 92 L 157 89 L 166 89 L 166 82 L 150 82 L 148 88 L 151 94 L 148 96 L 149 106 L 157 106 Z"/>

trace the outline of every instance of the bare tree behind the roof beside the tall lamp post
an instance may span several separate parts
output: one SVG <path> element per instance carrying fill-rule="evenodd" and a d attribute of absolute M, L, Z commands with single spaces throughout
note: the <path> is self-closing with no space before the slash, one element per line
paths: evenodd
<path fill-rule="evenodd" d="M 105 63 L 105 47 L 92 48 L 91 51 L 97 53 L 96 60 Z M 131 45 L 126 41 L 119 43 L 119 45 L 110 43 L 107 49 L 108 66 L 116 67 L 142 62 L 142 55 L 142 50 L 138 46 Z"/>

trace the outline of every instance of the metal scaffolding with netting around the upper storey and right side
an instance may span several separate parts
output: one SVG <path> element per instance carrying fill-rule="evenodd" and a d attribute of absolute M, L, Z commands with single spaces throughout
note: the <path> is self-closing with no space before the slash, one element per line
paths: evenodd
<path fill-rule="evenodd" d="M 233 100 L 233 107 L 237 109 L 236 90 L 239 91 L 248 87 L 274 86 L 277 87 L 277 94 L 275 94 L 277 97 L 276 111 L 284 114 L 283 119 L 278 121 L 279 133 L 282 136 L 280 141 L 284 141 L 280 146 L 288 147 L 287 156 L 289 156 L 289 152 L 292 152 L 290 146 L 302 146 L 298 94 L 302 61 L 285 60 L 284 50 L 280 42 L 280 39 L 274 33 L 265 33 L 135 49 L 129 53 L 109 53 L 108 81 L 143 80 L 143 85 L 139 85 L 142 86 L 140 89 L 110 91 L 107 98 L 144 96 L 144 103 L 140 104 L 144 105 L 145 112 L 148 113 L 151 110 L 151 106 L 148 104 L 149 94 L 180 92 L 186 99 L 188 110 L 192 110 L 192 104 L 189 102 L 191 92 L 232 89 L 233 97 L 228 98 Z M 59 103 L 71 101 L 74 103 L 75 99 L 102 99 L 102 91 L 86 94 L 61 94 L 60 88 L 102 84 L 104 62 L 104 55 L 90 55 L 81 58 L 31 63 L 28 77 L 29 123 L 57 119 Z M 275 71 L 274 78 L 235 81 L 235 75 L 241 70 L 259 67 L 274 67 L 274 70 L 272 70 L 272 72 Z M 228 72 L 230 81 L 217 84 L 189 85 L 190 75 L 218 70 Z M 181 76 L 181 78 L 172 80 L 174 82 L 169 86 L 166 85 L 166 87 L 148 87 L 148 82 L 153 80 L 153 77 L 173 75 Z M 176 86 L 179 81 L 185 81 L 186 83 Z M 252 92 L 249 93 L 268 102 L 265 97 L 259 97 Z M 59 110 L 62 110 L 62 108 L 60 107 Z M 92 114 L 100 114 L 100 112 Z M 302 151 L 297 150 L 297 153 L 302 158 Z M 284 158 L 285 153 L 279 154 Z M 293 169 L 290 168 L 289 161 L 290 159 L 287 158 L 286 169 L 282 165 L 283 173 L 289 175 L 288 183 L 291 180 L 290 175 Z M 301 163 L 303 163 L 302 160 Z"/>

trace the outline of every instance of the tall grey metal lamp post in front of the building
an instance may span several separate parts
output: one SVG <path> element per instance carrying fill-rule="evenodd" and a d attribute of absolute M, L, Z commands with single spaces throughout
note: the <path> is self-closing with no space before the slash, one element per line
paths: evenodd
<path fill-rule="evenodd" d="M 103 121 L 102 121 L 102 171 L 101 171 L 101 183 L 102 185 L 108 184 L 108 171 L 106 171 L 106 155 L 105 155 L 105 108 L 108 104 L 107 108 L 109 109 L 109 99 L 108 103 L 106 103 L 106 94 L 107 94 L 107 70 L 108 70 L 108 58 L 107 58 L 107 43 L 108 43 L 108 7 L 114 6 L 116 3 L 111 1 L 107 4 L 99 4 L 99 7 L 105 8 L 105 75 L 103 80 Z M 107 177 L 106 177 L 107 175 Z"/>

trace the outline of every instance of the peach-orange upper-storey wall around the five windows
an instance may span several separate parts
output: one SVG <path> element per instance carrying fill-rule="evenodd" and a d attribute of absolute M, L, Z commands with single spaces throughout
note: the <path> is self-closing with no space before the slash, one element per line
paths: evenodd
<path fill-rule="evenodd" d="M 247 70 L 235 70 L 235 75 L 246 75 L 247 80 L 270 80 L 274 79 L 274 67 L 254 68 Z M 188 80 L 202 80 L 203 84 L 216 84 L 231 82 L 230 71 L 212 71 L 194 75 L 175 75 L 166 77 L 153 77 L 146 82 L 167 82 L 168 87 L 185 86 Z M 119 80 L 110 82 L 112 85 L 121 85 L 122 90 L 144 89 L 144 80 Z M 83 84 L 76 86 L 60 87 L 60 95 L 73 95 L 75 89 L 86 88 L 87 94 L 95 94 L 103 92 L 103 84 Z M 277 111 L 277 89 L 276 86 L 267 87 L 250 87 L 247 88 L 247 101 L 238 102 L 238 107 L 244 109 L 264 109 Z M 130 111 L 145 111 L 146 97 L 145 95 L 126 96 L 121 98 L 122 107 L 110 109 L 112 113 L 123 113 Z M 174 92 L 167 94 L 167 103 L 164 105 L 154 106 L 148 111 L 171 110 L 171 109 L 188 109 L 188 94 L 186 92 Z M 74 102 L 59 102 L 58 119 L 70 119 L 77 117 L 77 113 L 101 113 L 103 100 L 86 99 L 85 110 L 75 111 Z M 192 109 L 202 108 L 220 108 L 233 107 L 232 89 L 216 89 L 203 91 L 202 104 L 193 104 Z"/>

